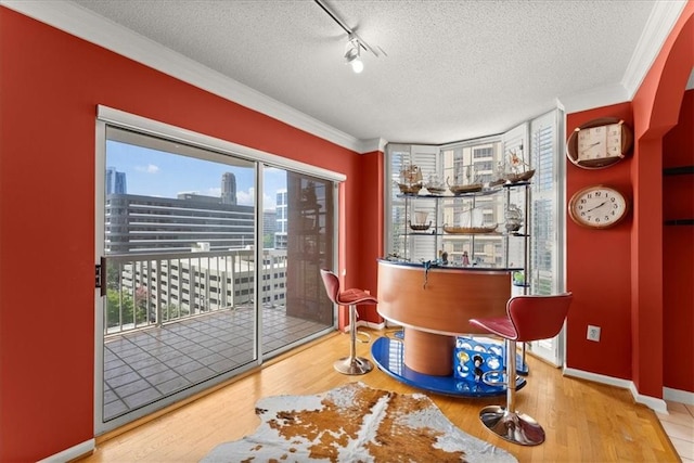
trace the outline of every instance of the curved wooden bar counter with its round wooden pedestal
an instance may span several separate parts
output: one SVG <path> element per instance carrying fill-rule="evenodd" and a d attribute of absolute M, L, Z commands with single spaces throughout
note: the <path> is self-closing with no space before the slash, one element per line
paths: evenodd
<path fill-rule="evenodd" d="M 415 372 L 453 372 L 455 336 L 488 334 L 470 324 L 504 317 L 518 269 L 432 266 L 378 260 L 378 313 L 404 330 L 403 361 Z"/>

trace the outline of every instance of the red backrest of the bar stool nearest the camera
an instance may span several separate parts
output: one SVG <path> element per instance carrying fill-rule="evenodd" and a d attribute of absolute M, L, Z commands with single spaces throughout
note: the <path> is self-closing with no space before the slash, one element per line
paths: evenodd
<path fill-rule="evenodd" d="M 571 293 L 564 293 L 509 299 L 506 312 L 517 333 L 515 340 L 526 343 L 556 336 L 562 331 L 573 297 Z"/>

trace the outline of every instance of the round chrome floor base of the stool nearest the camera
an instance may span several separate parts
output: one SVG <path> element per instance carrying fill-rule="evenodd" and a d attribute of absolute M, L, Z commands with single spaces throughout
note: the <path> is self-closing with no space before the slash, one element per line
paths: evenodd
<path fill-rule="evenodd" d="M 538 446 L 544 442 L 542 426 L 524 413 L 510 412 L 499 406 L 489 406 L 481 409 L 479 420 L 487 429 L 510 442 L 522 446 Z"/>

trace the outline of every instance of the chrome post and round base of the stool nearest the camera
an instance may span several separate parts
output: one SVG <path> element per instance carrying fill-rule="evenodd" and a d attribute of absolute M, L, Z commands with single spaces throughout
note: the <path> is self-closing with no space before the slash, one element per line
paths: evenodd
<path fill-rule="evenodd" d="M 515 402 L 516 342 L 506 339 L 506 407 L 485 407 L 479 412 L 479 420 L 487 429 L 510 442 L 522 446 L 537 446 L 544 442 L 542 426 L 532 417 L 517 413 Z"/>

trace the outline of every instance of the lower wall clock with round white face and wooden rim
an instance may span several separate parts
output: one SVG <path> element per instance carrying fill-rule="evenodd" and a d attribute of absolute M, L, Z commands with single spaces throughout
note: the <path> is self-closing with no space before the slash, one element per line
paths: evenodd
<path fill-rule="evenodd" d="M 619 223 L 629 211 L 629 201 L 618 190 L 604 185 L 577 191 L 568 203 L 568 214 L 582 227 L 606 229 Z"/>

